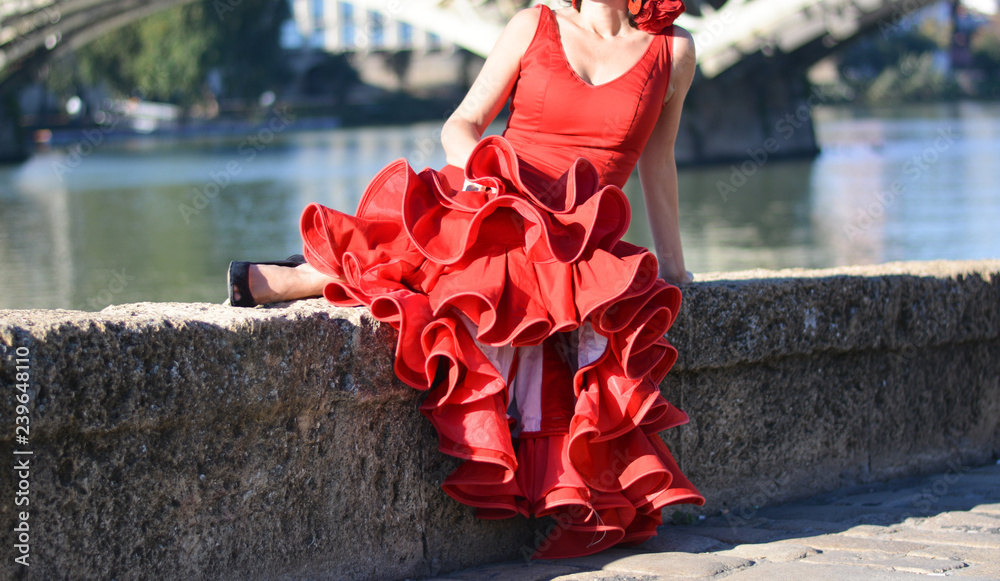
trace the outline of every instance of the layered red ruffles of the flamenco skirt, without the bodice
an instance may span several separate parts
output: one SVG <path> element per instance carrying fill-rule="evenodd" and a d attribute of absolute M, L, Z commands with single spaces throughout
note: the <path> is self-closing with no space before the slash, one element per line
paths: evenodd
<path fill-rule="evenodd" d="M 301 221 L 306 259 L 343 280 L 325 297 L 398 329 L 397 375 L 430 390 L 421 412 L 440 450 L 466 460 L 445 492 L 482 518 L 552 515 L 543 558 L 641 542 L 662 507 L 703 503 L 656 435 L 687 421 L 658 389 L 677 357 L 663 335 L 681 294 L 649 251 L 620 240 L 624 193 L 585 159 L 548 183 L 495 136 L 466 168 L 484 191 L 447 175 L 396 161 L 356 216 L 314 204 Z M 480 345 L 539 345 L 588 323 L 607 347 L 573 377 L 568 432 L 512 438 L 505 379 Z"/>

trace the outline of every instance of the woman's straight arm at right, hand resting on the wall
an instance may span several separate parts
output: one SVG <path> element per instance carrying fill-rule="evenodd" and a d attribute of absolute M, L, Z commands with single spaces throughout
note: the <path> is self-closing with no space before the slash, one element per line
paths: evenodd
<path fill-rule="evenodd" d="M 656 258 L 660 263 L 660 278 L 671 283 L 684 283 L 691 282 L 692 275 L 684 267 L 684 252 L 681 249 L 674 143 L 684 97 L 694 79 L 695 55 L 691 34 L 679 27 L 675 30 L 671 88 L 653 135 L 639 157 L 639 181 L 649 227 L 653 232 Z"/>

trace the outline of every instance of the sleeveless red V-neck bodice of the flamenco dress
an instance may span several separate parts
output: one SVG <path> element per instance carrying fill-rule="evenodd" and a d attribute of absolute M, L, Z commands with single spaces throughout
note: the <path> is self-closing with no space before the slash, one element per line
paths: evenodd
<path fill-rule="evenodd" d="M 566 58 L 556 16 L 541 5 L 535 36 L 521 58 L 504 137 L 524 165 L 556 179 L 580 157 L 605 185 L 623 186 L 652 134 L 670 84 L 670 35 L 655 35 L 617 78 L 592 85 Z"/>

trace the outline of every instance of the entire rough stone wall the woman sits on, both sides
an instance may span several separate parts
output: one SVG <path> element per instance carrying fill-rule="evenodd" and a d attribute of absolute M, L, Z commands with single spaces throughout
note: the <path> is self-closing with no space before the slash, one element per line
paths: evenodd
<path fill-rule="evenodd" d="M 1000 454 L 1000 261 L 708 276 L 670 339 L 662 389 L 691 423 L 666 439 L 705 513 Z M 521 557 L 537 523 L 441 492 L 455 462 L 393 343 L 320 300 L 0 311 L 0 522 L 29 512 L 31 564 L 5 541 L 2 575 L 402 579 Z"/>

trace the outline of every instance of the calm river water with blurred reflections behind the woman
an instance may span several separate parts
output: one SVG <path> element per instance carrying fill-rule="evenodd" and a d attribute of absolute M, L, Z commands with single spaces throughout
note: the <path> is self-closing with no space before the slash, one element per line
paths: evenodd
<path fill-rule="evenodd" d="M 817 110 L 814 160 L 680 172 L 690 270 L 1000 257 L 1000 104 Z M 437 125 L 81 142 L 0 168 L 0 309 L 225 299 L 229 260 L 300 251 L 309 202 L 444 163 Z M 637 179 L 627 239 L 649 245 Z M 202 197 L 199 195 L 208 194 Z"/>

